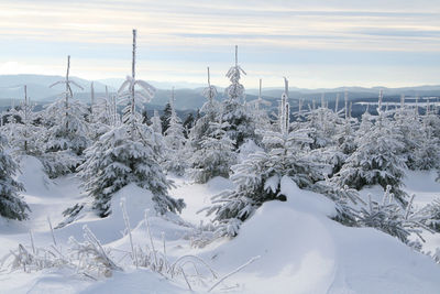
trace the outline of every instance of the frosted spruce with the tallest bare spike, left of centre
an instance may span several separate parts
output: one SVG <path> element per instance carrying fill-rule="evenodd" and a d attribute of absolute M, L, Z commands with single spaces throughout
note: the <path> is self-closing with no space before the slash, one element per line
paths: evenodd
<path fill-rule="evenodd" d="M 142 123 L 136 106 L 142 106 L 154 95 L 154 87 L 135 79 L 135 36 L 133 30 L 132 76 L 122 84 L 119 94 L 127 101 L 123 123 L 110 131 L 86 151 L 86 162 L 79 166 L 84 188 L 94 197 L 94 208 L 101 217 L 111 213 L 112 195 L 130 183 L 135 183 L 153 194 L 156 210 L 180 211 L 185 204 L 168 195 L 170 182 L 158 164 L 162 145 L 151 127 Z M 136 86 L 141 89 L 138 90 Z"/>

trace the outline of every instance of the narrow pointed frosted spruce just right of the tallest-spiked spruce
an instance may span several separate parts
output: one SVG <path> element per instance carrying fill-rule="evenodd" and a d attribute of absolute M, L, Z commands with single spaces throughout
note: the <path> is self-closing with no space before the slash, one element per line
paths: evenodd
<path fill-rule="evenodd" d="M 169 105 L 172 107 L 172 116 L 169 118 L 169 127 L 165 131 L 164 142 L 166 145 L 164 167 L 167 172 L 176 175 L 184 175 L 187 167 L 187 152 L 185 149 L 185 129 L 179 117 L 174 109 L 175 97 L 174 88 Z"/>

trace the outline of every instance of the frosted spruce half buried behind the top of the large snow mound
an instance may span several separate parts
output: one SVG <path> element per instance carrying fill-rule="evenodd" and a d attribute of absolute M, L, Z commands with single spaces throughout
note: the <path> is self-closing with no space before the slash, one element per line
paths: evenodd
<path fill-rule="evenodd" d="M 280 179 L 289 176 L 299 187 L 310 187 L 322 179 L 321 165 L 316 163 L 302 150 L 305 143 L 310 143 L 310 130 L 289 131 L 288 91 L 282 97 L 279 126 L 277 132 L 265 131 L 263 144 L 266 152 L 256 152 L 232 166 L 231 179 L 235 184 L 233 190 L 226 190 L 212 198 L 212 205 L 205 208 L 208 215 L 213 215 L 218 225 L 218 236 L 237 236 L 240 225 L 250 218 L 265 202 L 284 200 L 280 194 Z"/>

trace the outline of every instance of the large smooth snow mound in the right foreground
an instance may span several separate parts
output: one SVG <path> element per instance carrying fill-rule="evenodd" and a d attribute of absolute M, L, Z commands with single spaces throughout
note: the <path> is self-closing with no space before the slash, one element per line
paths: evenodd
<path fill-rule="evenodd" d="M 438 265 L 396 238 L 344 227 L 333 204 L 282 179 L 287 202 L 265 203 L 237 238 L 205 249 L 213 266 L 261 259 L 231 277 L 246 293 L 438 293 Z"/>

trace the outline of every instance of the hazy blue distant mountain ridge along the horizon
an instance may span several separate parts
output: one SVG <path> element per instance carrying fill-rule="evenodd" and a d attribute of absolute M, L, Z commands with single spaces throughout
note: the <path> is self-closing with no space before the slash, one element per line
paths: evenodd
<path fill-rule="evenodd" d="M 63 85 L 57 85 L 53 88 L 48 86 L 57 80 L 64 79 L 63 76 L 45 76 L 45 75 L 0 75 L 0 106 L 11 105 L 11 99 L 21 100 L 23 98 L 23 85 L 28 85 L 28 95 L 31 100 L 38 102 L 50 102 L 64 91 Z M 90 84 L 91 80 L 82 79 L 79 77 L 72 77 L 79 84 L 84 90 L 74 89 L 75 97 L 88 102 L 90 100 Z M 109 91 L 114 92 L 123 79 L 99 79 L 94 80 L 95 96 L 102 97 L 105 95 L 106 85 Z M 170 97 L 170 88 L 173 83 L 169 81 L 148 81 L 157 88 L 157 92 L 152 100 L 152 105 L 157 107 L 164 106 Z M 205 98 L 201 96 L 204 85 L 190 84 L 185 81 L 175 83 L 175 97 L 176 108 L 182 110 L 198 109 L 204 102 Z M 197 87 L 199 86 L 199 87 Z M 245 86 L 245 85 L 244 85 Z M 193 87 L 193 88 L 189 88 Z M 218 99 L 223 99 L 223 89 L 219 89 Z M 380 89 L 384 90 L 385 97 L 396 98 L 400 95 L 405 96 L 440 96 L 440 85 L 433 86 L 417 86 L 417 87 L 403 87 L 403 88 L 387 88 L 387 87 L 339 87 L 339 88 L 319 88 L 319 89 L 305 89 L 290 87 L 290 99 L 306 99 L 320 101 L 321 95 L 324 94 L 326 100 L 334 100 L 336 96 L 340 94 L 343 99 L 343 92 L 348 90 L 350 99 L 372 99 L 377 97 Z M 264 88 L 262 91 L 263 98 L 270 100 L 273 106 L 283 94 L 283 88 Z M 257 98 L 257 89 L 246 89 L 246 100 Z"/>

